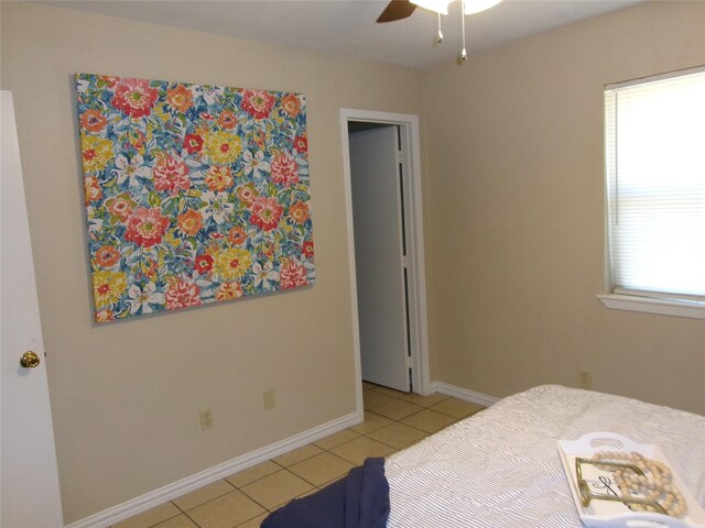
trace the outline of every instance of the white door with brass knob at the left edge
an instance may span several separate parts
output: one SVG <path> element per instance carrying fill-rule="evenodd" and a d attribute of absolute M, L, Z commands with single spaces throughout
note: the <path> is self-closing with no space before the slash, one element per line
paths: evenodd
<path fill-rule="evenodd" d="M 2 90 L 2 528 L 64 526 L 12 95 Z M 33 351 L 35 367 L 20 358 Z M 31 361 L 30 361 L 31 364 Z"/>

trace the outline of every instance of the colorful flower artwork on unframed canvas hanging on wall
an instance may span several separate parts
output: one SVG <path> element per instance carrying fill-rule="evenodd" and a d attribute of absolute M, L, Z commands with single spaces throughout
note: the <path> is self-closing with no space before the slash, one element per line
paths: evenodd
<path fill-rule="evenodd" d="M 301 94 L 76 75 L 95 319 L 315 280 Z"/>

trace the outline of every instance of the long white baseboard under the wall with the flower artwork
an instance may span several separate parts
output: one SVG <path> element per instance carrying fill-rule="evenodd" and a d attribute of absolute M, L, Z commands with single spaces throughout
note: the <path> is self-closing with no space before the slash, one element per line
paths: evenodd
<path fill-rule="evenodd" d="M 350 426 L 357 425 L 365 419 L 362 411 L 350 413 L 335 420 L 328 421 L 307 431 L 294 435 L 265 448 L 251 451 L 232 460 L 204 470 L 195 475 L 187 476 L 164 487 L 154 490 L 140 497 L 135 497 L 127 503 L 119 504 L 111 508 L 94 514 L 84 519 L 67 525 L 66 528 L 108 528 L 120 520 L 124 520 L 134 515 L 141 514 L 154 506 L 159 506 L 167 501 L 180 497 L 188 492 L 193 492 L 207 484 L 225 479 L 238 471 L 247 470 L 252 465 L 284 454 L 293 449 L 301 448 L 307 443 L 319 440 L 328 435 L 338 432 Z"/>

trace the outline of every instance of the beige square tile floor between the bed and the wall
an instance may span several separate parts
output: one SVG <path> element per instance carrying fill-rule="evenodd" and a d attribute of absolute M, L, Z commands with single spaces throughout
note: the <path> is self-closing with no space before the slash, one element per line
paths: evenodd
<path fill-rule="evenodd" d="M 482 407 L 364 383 L 365 421 L 230 475 L 112 528 L 258 528 L 269 512 L 387 457 Z"/>

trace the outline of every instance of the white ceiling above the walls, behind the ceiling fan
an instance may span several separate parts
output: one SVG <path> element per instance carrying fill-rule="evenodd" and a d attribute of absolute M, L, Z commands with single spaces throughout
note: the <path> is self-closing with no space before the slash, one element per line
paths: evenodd
<path fill-rule="evenodd" d="M 549 31 L 643 0 L 505 0 L 466 16 L 467 52 Z M 444 43 L 433 44 L 435 14 L 416 9 L 408 19 L 376 23 L 387 0 L 66 0 L 50 1 L 128 19 L 240 38 L 267 41 L 403 66 L 457 61 L 459 2 L 443 16 Z"/>

